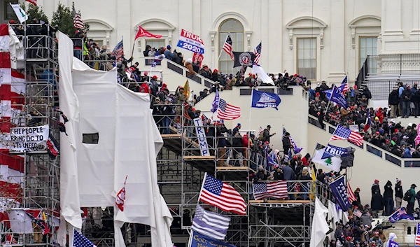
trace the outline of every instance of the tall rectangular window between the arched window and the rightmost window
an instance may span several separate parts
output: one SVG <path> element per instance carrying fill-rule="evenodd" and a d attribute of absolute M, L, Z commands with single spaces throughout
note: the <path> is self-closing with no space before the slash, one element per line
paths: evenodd
<path fill-rule="evenodd" d="M 297 74 L 316 80 L 316 38 L 297 38 Z"/>

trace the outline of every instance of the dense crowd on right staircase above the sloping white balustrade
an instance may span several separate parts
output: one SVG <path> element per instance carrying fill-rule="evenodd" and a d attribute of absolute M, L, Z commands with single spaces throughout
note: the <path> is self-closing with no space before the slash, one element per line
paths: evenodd
<path fill-rule="evenodd" d="M 346 101 L 349 105 L 348 108 L 332 104 L 328 107 L 328 99 L 325 91 L 330 90 L 331 87 L 328 87 L 323 82 L 321 85 L 317 85 L 315 90 L 309 90 L 309 114 L 318 118 L 318 122 L 322 128 L 325 127 L 323 122 L 328 122 L 330 125 L 335 126 L 343 125 L 347 128 L 350 125 L 357 125 L 359 133 L 363 135 L 364 141 L 379 148 L 370 148 L 368 146 L 368 149 L 376 155 L 381 155 L 380 149 L 382 149 L 398 157 L 420 157 L 420 147 L 414 143 L 414 139 L 417 136 L 417 125 L 410 123 L 408 126 L 402 126 L 400 122 L 395 121 L 395 117 L 398 117 L 399 110 L 401 110 L 401 113 L 403 112 L 398 102 L 402 102 L 402 105 L 404 105 L 404 95 L 413 94 L 414 88 L 416 90 L 416 85 L 412 88 L 409 85 L 405 89 L 402 89 L 402 87 L 400 83 L 400 90 L 393 90 L 391 92 L 389 100 L 390 108 L 374 109 L 368 107 L 369 99 L 372 98 L 370 90 L 367 87 L 358 90 L 356 85 L 349 87 L 349 91 L 345 92 Z M 400 100 L 398 100 L 398 95 L 395 96 L 395 92 L 400 92 Z M 418 90 L 416 90 L 416 93 L 420 94 Z M 415 106 L 415 104 L 412 105 Z M 410 112 L 407 115 L 416 115 L 416 108 L 410 109 L 412 110 L 409 110 Z M 405 118 L 407 115 L 400 115 L 400 117 Z M 368 124 L 367 120 L 369 117 L 371 120 L 370 124 Z M 370 127 L 367 127 L 367 124 Z"/>

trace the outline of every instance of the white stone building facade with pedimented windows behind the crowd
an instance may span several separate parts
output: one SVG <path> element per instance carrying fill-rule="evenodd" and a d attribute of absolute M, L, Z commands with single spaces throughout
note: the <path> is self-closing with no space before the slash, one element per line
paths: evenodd
<path fill-rule="evenodd" d="M 10 18 L 2 1 L 1 20 Z M 18 1 L 18 0 L 15 0 Z M 61 2 L 38 0 L 49 17 Z M 367 55 L 420 52 L 420 5 L 416 0 L 260 0 L 260 1 L 81 1 L 74 0 L 88 36 L 113 48 L 122 37 L 126 57 L 142 57 L 146 45 L 176 47 L 181 29 L 202 38 L 204 63 L 233 73 L 221 52 L 228 34 L 235 51 L 252 51 L 262 42 L 260 64 L 270 73 L 298 73 L 328 82 L 349 74 L 354 80 Z M 137 25 L 162 38 L 139 38 Z M 133 46 L 134 43 L 134 46 Z M 185 58 L 188 50 L 178 48 Z M 220 59 L 219 59 L 220 57 Z"/>

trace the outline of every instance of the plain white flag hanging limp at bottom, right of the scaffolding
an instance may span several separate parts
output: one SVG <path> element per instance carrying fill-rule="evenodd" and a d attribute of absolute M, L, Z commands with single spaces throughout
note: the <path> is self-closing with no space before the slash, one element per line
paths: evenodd
<path fill-rule="evenodd" d="M 310 247 L 322 247 L 323 241 L 325 240 L 325 233 L 330 230 L 328 227 L 327 217 L 328 209 L 323 206 L 322 202 L 315 198 L 315 212 L 314 212 L 314 220 L 312 221 L 312 229 L 311 229 L 311 242 Z"/>

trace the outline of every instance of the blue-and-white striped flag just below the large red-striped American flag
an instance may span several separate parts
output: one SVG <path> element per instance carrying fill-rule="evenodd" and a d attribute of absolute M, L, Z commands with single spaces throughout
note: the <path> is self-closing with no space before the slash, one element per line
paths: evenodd
<path fill-rule="evenodd" d="M 230 224 L 228 216 L 206 211 L 197 205 L 191 229 L 212 239 L 223 240 L 226 237 Z"/>

